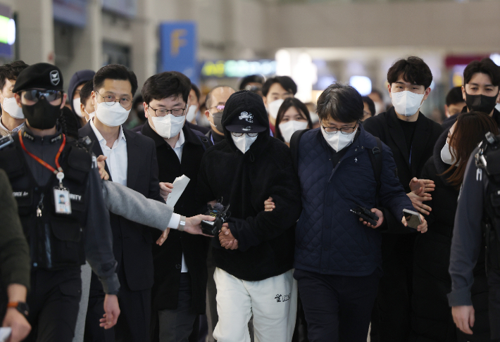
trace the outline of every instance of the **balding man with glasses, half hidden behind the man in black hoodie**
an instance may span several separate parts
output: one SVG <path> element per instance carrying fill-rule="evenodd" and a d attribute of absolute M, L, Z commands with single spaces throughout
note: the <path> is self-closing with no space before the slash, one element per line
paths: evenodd
<path fill-rule="evenodd" d="M 235 89 L 231 87 L 218 86 L 213 88 L 206 95 L 205 116 L 211 125 L 211 130 L 206 134 L 206 137 L 208 137 L 213 144 L 218 144 L 225 139 L 222 125 L 223 111 L 227 99 L 234 93 Z"/>

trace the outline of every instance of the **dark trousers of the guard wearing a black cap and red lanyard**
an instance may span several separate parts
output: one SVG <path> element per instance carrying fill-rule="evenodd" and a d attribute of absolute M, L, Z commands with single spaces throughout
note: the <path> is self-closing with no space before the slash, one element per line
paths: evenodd
<path fill-rule="evenodd" d="M 27 305 L 32 330 L 24 341 L 71 342 L 81 296 L 80 266 L 61 271 L 31 272 Z"/>

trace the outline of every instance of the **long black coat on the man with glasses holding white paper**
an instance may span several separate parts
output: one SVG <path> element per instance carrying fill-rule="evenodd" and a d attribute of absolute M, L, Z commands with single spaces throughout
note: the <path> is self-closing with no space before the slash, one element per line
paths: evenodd
<path fill-rule="evenodd" d="M 200 132 L 185 126 L 182 128 L 185 144 L 182 148 L 182 158 L 179 158 L 173 148 L 146 124 L 142 127 L 142 134 L 150 137 L 156 144 L 158 158 L 159 179 L 161 182 L 173 183 L 176 177 L 189 177 L 187 188 L 175 204 L 175 213 L 187 217 L 204 213 L 206 208 L 196 205 L 195 193 L 201 157 L 205 148 L 201 140 L 208 139 Z M 154 239 L 161 232 L 154 232 Z M 163 246 L 153 246 L 154 258 L 154 286 L 151 298 L 155 310 L 175 310 L 179 299 L 180 271 L 182 253 L 192 281 L 192 312 L 205 313 L 206 303 L 206 256 L 210 240 L 205 236 L 187 234 L 171 229 L 168 239 Z"/>

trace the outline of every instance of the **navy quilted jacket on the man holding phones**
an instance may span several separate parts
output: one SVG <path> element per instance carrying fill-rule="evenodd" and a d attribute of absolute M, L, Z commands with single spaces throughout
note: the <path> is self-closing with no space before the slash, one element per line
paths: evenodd
<path fill-rule="evenodd" d="M 377 142 L 363 126 L 360 130 L 337 165 L 319 128 L 301 137 L 297 167 L 303 209 L 296 225 L 296 269 L 361 277 L 382 265 L 380 232 L 349 211 L 356 204 L 375 208 L 377 182 L 367 150 Z M 413 205 L 395 169 L 392 152 L 382 143 L 379 203 L 402 218 L 403 209 L 413 210 Z"/>

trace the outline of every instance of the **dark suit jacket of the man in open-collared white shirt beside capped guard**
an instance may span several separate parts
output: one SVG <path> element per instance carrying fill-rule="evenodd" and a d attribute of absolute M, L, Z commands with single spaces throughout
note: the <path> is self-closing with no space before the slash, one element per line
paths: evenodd
<path fill-rule="evenodd" d="M 88 136 L 94 141 L 92 151 L 96 156 L 103 154 L 90 123 L 79 129 L 78 134 L 80 137 Z M 127 140 L 127 187 L 147 198 L 164 203 L 165 201 L 160 196 L 154 141 L 125 128 L 123 134 Z M 113 180 L 107 163 L 106 171 L 110 174 L 110 180 Z M 113 213 L 110 213 L 110 218 L 113 232 L 113 253 L 118 261 L 117 272 L 119 267 L 123 267 L 130 290 L 151 289 L 153 286 L 151 246 L 154 241 L 151 229 Z"/>

